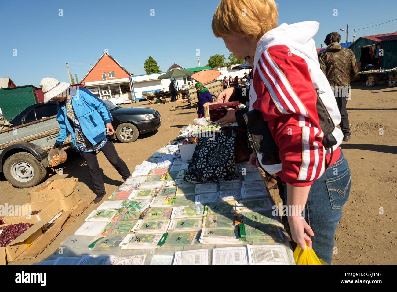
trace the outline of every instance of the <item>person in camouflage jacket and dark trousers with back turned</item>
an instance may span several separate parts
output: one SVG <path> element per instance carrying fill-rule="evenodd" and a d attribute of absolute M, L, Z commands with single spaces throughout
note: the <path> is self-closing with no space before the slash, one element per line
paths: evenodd
<path fill-rule="evenodd" d="M 341 113 L 339 126 L 343 132 L 343 141 L 349 141 L 351 133 L 346 104 L 349 99 L 350 81 L 357 76 L 358 68 L 353 51 L 339 45 L 340 39 L 341 35 L 337 32 L 327 35 L 324 43 L 328 48 L 320 54 L 318 61 L 320 62 L 321 70 L 335 92 L 335 99 Z"/>

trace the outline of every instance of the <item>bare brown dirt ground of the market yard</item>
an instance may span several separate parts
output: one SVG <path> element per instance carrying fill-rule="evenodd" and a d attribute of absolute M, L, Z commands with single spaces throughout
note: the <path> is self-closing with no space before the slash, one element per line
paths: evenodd
<path fill-rule="evenodd" d="M 170 111 L 171 106 L 184 104 L 154 104 L 137 102 L 125 105 L 151 107 L 162 115 L 161 127 L 139 136 L 133 143 L 115 144 L 119 156 L 132 172 L 135 165 L 148 158 L 154 150 L 178 136 L 184 125 L 196 115 L 195 108 Z M 352 186 L 342 219 L 335 233 L 332 264 L 395 264 L 397 259 L 397 88 L 374 86 L 353 87 L 352 99 L 347 103 L 352 138 L 343 142 L 352 174 Z M 111 194 L 122 183 L 121 177 L 102 153 L 98 154 L 106 193 Z M 45 181 L 78 177 L 81 199 L 94 197 L 85 161 L 68 152 L 62 165 L 64 175 L 46 176 Z M 45 184 L 45 181 L 42 184 Z M 29 202 L 31 189 L 13 187 L 0 174 L 0 204 L 22 205 Z M 271 190 L 278 204 L 277 190 Z M 103 201 L 106 200 L 105 198 Z M 10 264 L 32 264 L 55 252 L 60 243 L 84 222 L 99 204 L 89 206 L 66 230 L 35 259 L 17 260 Z"/>

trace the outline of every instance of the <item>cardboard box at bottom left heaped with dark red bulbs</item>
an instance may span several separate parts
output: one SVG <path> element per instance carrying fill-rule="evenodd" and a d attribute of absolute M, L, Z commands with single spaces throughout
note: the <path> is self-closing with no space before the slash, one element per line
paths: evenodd
<path fill-rule="evenodd" d="M 4 247 L 6 250 L 7 261 L 10 262 L 19 257 L 19 255 L 27 250 L 27 248 L 29 248 L 33 244 L 33 242 L 38 240 L 40 236 L 43 235 L 44 231 L 46 231 L 44 225 L 49 220 L 50 218 L 45 218 L 43 220 L 37 221 L 27 231 L 23 232 L 12 242 L 10 242 L 6 247 Z M 4 227 L 6 225 L 1 225 L 0 227 Z"/>

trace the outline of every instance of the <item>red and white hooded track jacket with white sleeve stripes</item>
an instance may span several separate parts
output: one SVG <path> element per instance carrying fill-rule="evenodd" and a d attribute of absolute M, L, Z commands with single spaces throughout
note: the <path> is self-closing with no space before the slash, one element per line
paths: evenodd
<path fill-rule="evenodd" d="M 318 63 L 313 40 L 318 27 L 315 21 L 283 23 L 262 36 L 255 52 L 249 110 L 262 111 L 281 160 L 262 167 L 295 186 L 312 184 L 330 159 L 331 149 L 326 153 L 321 143 L 324 133 L 318 122 L 314 88 L 324 91 L 320 98 L 335 126 L 341 121 L 335 96 Z M 333 136 L 337 145 L 333 146 L 331 164 L 340 156 L 343 133 L 335 127 Z M 261 158 L 258 154 L 259 162 Z"/>

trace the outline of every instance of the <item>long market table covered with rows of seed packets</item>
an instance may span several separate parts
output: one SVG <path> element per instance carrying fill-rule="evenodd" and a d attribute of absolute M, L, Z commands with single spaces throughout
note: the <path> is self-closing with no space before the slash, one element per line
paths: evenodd
<path fill-rule="evenodd" d="M 195 119 L 38 264 L 295 264 L 262 173 L 229 159 L 233 139 Z M 208 170 L 215 154 L 229 162 Z"/>

